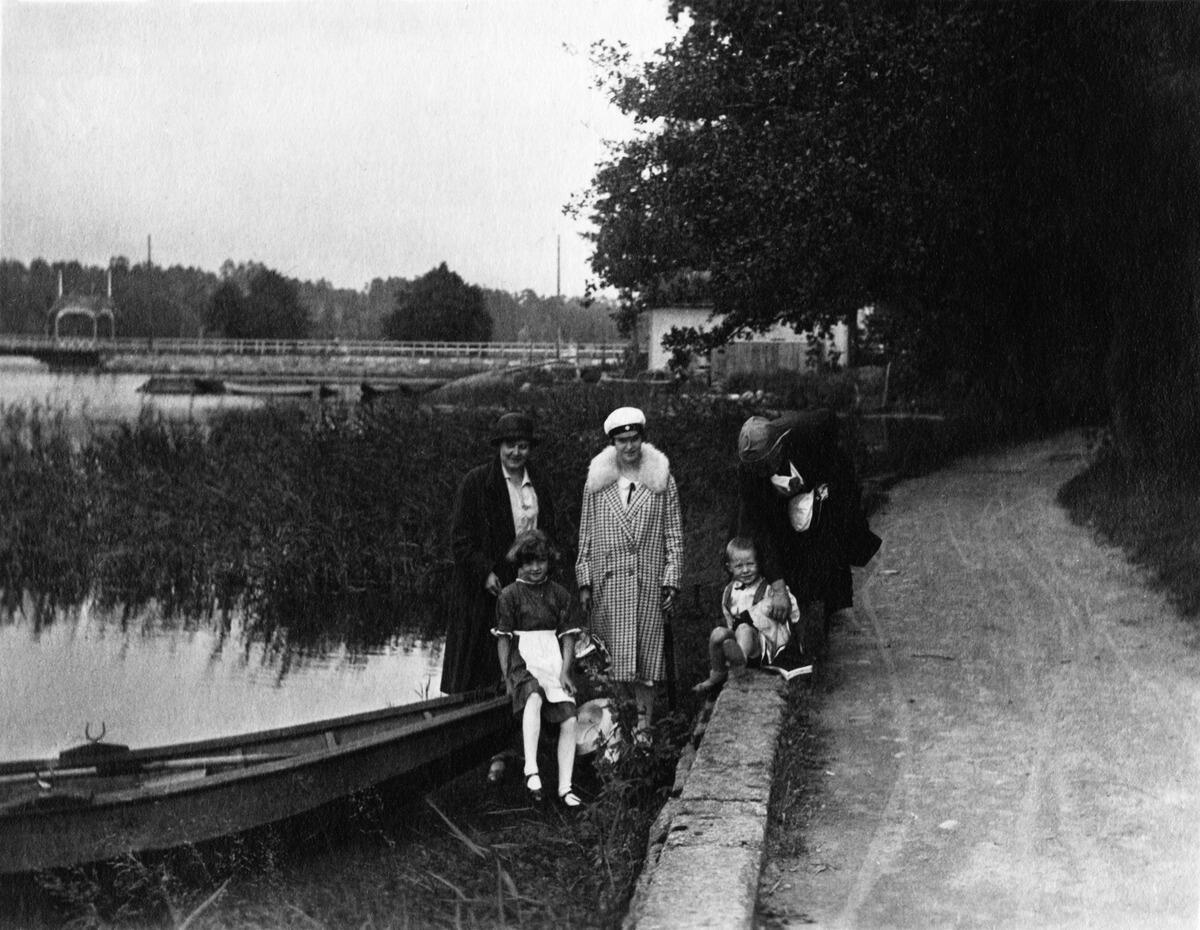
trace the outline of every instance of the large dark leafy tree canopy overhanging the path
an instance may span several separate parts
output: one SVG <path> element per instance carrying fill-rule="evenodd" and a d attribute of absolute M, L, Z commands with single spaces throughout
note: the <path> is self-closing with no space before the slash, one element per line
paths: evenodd
<path fill-rule="evenodd" d="M 629 316 L 680 278 L 725 314 L 710 341 L 874 305 L 918 390 L 1103 406 L 1116 317 L 1195 228 L 1170 196 L 1195 182 L 1190 5 L 671 10 L 689 25 L 641 71 L 596 55 L 642 128 L 580 205 Z"/>

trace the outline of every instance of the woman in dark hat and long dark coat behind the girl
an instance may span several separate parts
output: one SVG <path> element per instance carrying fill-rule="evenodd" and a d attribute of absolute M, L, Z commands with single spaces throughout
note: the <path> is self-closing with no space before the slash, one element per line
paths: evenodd
<path fill-rule="evenodd" d="M 470 469 L 455 496 L 450 548 L 454 583 L 448 598 L 442 690 L 461 694 L 500 684 L 496 659 L 496 598 L 516 580 L 505 559 L 518 532 L 540 529 L 554 539 L 554 496 L 529 463 L 538 439 L 533 419 L 506 413 L 491 437 L 497 455 Z"/>

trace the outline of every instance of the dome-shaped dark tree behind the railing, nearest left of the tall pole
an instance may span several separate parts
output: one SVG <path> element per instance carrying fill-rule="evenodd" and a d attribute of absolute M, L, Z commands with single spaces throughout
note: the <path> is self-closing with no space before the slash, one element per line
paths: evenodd
<path fill-rule="evenodd" d="M 388 338 L 416 342 L 488 342 L 492 318 L 484 292 L 466 283 L 443 262 L 396 294 Z"/>

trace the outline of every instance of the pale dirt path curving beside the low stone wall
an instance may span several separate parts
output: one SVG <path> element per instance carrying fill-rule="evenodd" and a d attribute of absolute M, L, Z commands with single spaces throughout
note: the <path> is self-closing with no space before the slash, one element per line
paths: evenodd
<path fill-rule="evenodd" d="M 900 485 L 767 926 L 1200 926 L 1200 631 L 1056 505 L 1069 436 Z"/>

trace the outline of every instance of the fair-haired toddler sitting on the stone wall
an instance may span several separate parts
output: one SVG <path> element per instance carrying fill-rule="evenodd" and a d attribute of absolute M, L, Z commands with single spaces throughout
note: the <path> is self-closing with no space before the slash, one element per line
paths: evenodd
<path fill-rule="evenodd" d="M 748 662 L 769 664 L 796 635 L 800 608 L 792 592 L 787 592 L 791 613 L 787 623 L 775 623 L 767 614 L 770 588 L 758 574 L 758 554 L 754 540 L 734 536 L 725 546 L 725 570 L 730 581 L 721 595 L 722 626 L 708 637 L 708 678 L 692 688 L 704 694 L 725 683 L 732 668 L 739 672 Z"/>

